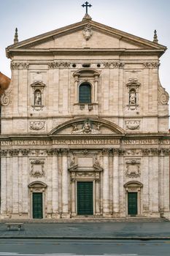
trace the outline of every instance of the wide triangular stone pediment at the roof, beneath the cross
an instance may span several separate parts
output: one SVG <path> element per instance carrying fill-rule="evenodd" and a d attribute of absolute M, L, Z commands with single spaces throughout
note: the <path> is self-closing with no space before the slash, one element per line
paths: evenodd
<path fill-rule="evenodd" d="M 165 51 L 166 47 L 141 37 L 104 26 L 93 20 L 82 20 L 37 37 L 26 39 L 7 48 L 12 50 L 56 50 L 56 49 L 147 49 Z"/>

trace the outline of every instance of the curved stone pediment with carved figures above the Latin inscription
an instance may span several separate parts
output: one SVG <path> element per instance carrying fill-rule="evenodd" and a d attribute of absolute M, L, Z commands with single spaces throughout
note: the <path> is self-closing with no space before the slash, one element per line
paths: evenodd
<path fill-rule="evenodd" d="M 102 118 L 76 118 L 58 125 L 50 135 L 123 135 L 124 130 L 110 121 Z"/>

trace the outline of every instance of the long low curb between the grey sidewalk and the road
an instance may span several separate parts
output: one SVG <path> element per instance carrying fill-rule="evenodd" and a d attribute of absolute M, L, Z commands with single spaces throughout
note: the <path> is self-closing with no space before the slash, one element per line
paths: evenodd
<path fill-rule="evenodd" d="M 1 239 L 66 239 L 66 240 L 170 240 L 170 236 L 104 236 L 104 237 L 87 237 L 87 236 L 0 236 Z"/>

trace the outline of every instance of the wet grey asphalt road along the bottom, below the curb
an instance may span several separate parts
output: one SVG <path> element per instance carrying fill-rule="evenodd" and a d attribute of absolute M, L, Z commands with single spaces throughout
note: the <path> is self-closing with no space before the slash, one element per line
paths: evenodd
<path fill-rule="evenodd" d="M 22 255 L 124 255 L 124 256 L 169 256 L 170 241 L 140 240 L 49 240 L 19 239 L 0 241 L 0 256 Z"/>

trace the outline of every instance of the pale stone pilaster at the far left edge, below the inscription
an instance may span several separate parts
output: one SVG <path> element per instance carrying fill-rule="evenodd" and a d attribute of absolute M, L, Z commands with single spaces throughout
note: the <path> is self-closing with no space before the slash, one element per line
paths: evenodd
<path fill-rule="evenodd" d="M 7 176 L 6 176 L 6 157 L 1 155 L 1 214 L 6 215 L 6 201 L 7 201 Z"/>

